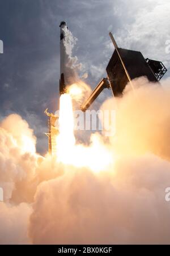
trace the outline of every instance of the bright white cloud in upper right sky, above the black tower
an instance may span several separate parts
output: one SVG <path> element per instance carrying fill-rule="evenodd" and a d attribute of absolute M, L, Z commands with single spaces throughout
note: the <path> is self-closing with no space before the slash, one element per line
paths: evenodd
<path fill-rule="evenodd" d="M 130 9 L 129 9 L 130 6 Z M 163 61 L 169 68 L 170 55 L 165 52 L 165 42 L 169 34 L 169 8 L 170 3 L 164 1 L 128 1 L 124 6 L 122 2 L 116 15 L 124 15 L 128 11 L 117 31 L 112 31 L 119 47 L 141 51 L 145 57 Z M 106 42 L 106 48 L 113 49 L 111 41 Z"/>

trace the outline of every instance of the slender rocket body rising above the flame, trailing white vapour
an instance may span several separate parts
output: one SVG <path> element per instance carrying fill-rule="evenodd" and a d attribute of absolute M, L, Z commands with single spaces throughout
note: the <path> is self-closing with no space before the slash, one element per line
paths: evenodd
<path fill-rule="evenodd" d="M 65 36 L 68 32 L 66 22 L 61 22 L 60 27 L 60 79 L 59 79 L 59 93 L 66 93 L 66 60 L 67 53 L 65 47 Z"/>

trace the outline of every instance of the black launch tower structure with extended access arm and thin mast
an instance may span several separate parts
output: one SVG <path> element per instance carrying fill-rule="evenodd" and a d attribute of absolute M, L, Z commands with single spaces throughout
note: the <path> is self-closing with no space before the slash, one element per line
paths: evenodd
<path fill-rule="evenodd" d="M 81 110 L 85 112 L 94 100 L 105 88 L 112 89 L 113 95 L 122 96 L 124 89 L 130 83 L 132 89 L 133 79 L 146 77 L 150 82 L 159 83 L 160 79 L 167 72 L 161 61 L 145 59 L 141 52 L 119 48 L 112 33 L 109 33 L 115 51 L 106 68 L 107 78 L 103 78 L 96 86 L 88 99 L 81 105 Z M 109 83 L 109 87 L 106 84 Z"/>

